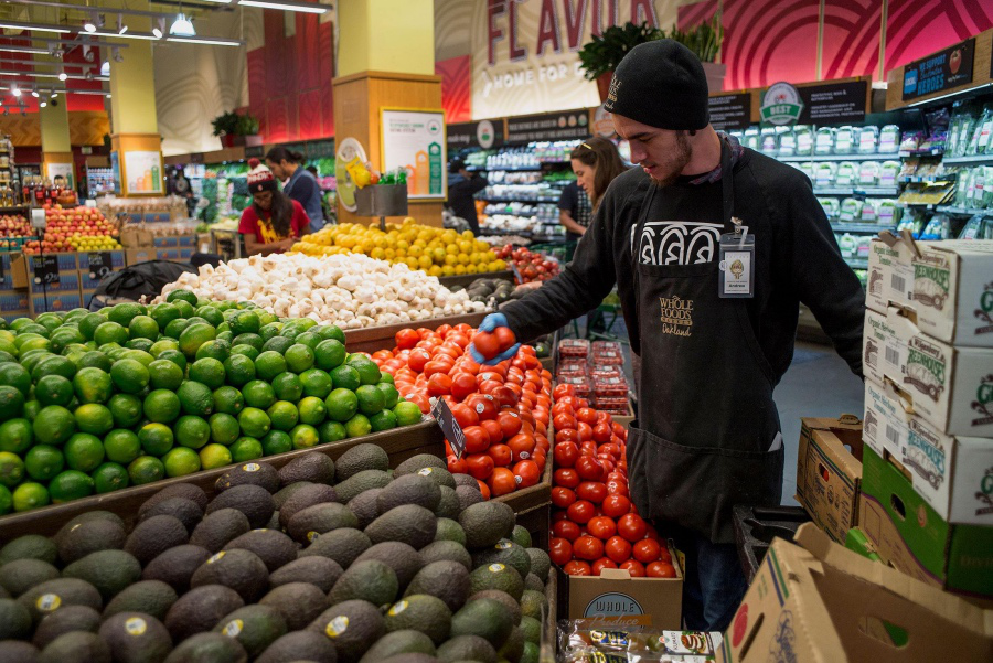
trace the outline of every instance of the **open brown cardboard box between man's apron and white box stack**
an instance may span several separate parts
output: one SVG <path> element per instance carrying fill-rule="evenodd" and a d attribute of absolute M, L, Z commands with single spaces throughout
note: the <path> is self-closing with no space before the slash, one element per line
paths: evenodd
<path fill-rule="evenodd" d="M 837 543 L 844 543 L 858 518 L 861 483 L 862 421 L 858 417 L 800 419 L 797 501 Z"/>

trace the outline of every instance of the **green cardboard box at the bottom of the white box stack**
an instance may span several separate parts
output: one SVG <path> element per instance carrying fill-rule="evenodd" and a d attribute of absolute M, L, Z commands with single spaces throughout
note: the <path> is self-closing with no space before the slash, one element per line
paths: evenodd
<path fill-rule="evenodd" d="M 858 526 L 879 556 L 918 580 L 993 606 L 993 527 L 949 523 L 891 455 L 864 451 Z M 972 507 L 993 511 L 991 474 L 975 490 Z"/>

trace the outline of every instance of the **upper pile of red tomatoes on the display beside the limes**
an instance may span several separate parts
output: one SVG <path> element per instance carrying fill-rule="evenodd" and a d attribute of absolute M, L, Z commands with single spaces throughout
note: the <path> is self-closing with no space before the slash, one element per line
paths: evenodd
<path fill-rule="evenodd" d="M 372 359 L 420 411 L 430 411 L 431 397 L 445 399 L 466 436 L 461 458 L 446 440 L 448 469 L 473 477 L 483 496 L 500 496 L 541 481 L 551 449 L 552 374 L 530 345 L 494 366 L 478 364 L 466 350 L 477 333 L 468 324 L 404 329 L 396 347 Z"/>

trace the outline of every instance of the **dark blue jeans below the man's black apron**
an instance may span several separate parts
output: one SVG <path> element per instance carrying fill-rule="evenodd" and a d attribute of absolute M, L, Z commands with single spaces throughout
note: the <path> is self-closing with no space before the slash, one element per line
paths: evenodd
<path fill-rule="evenodd" d="M 691 631 L 725 631 L 748 586 L 735 544 L 711 543 L 703 534 L 672 523 L 659 523 L 686 556 L 683 622 Z"/>

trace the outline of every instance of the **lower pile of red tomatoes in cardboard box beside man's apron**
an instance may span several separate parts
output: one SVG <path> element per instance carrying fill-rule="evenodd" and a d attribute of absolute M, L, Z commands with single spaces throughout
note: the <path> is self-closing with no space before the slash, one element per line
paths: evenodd
<path fill-rule="evenodd" d="M 672 556 L 628 493 L 627 429 L 588 407 L 569 384 L 555 386 L 552 562 L 574 576 L 622 568 L 673 578 Z"/>

